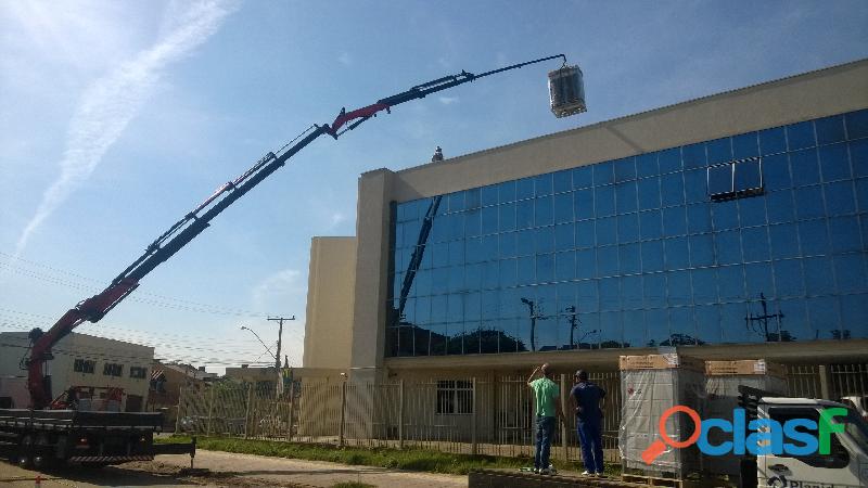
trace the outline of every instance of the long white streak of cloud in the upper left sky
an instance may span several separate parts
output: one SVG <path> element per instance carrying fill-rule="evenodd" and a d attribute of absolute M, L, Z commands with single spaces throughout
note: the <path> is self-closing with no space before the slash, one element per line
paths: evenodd
<path fill-rule="evenodd" d="M 230 13 L 231 9 L 218 1 L 190 4 L 179 16 L 182 22 L 154 46 L 85 90 L 67 129 L 61 175 L 46 190 L 36 214 L 24 228 L 15 248 L 16 256 L 34 231 L 90 177 L 108 147 L 139 113 L 165 68 L 205 42 Z"/>

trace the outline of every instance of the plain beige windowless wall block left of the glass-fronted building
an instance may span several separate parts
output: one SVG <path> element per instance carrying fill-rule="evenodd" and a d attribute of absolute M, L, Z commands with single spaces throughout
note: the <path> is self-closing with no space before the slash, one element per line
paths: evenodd
<path fill-rule="evenodd" d="M 349 367 L 355 278 L 356 237 L 311 240 L 304 368 Z"/>

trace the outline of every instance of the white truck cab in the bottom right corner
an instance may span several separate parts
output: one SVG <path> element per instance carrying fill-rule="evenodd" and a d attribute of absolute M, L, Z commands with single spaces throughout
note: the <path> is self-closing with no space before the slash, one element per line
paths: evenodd
<path fill-rule="evenodd" d="M 828 453 L 820 453 L 819 449 L 810 454 L 790 454 L 786 451 L 778 454 L 758 453 L 756 486 L 761 488 L 868 486 L 868 424 L 852 408 L 830 400 L 762 397 L 756 403 L 756 419 L 775 421 L 776 425 L 781 426 L 786 426 L 788 421 L 806 419 L 819 426 L 822 422 L 822 412 L 835 408 L 845 409 L 846 413 L 827 416 L 838 426 L 831 427 L 832 432 L 828 434 Z M 819 439 L 819 429 L 804 426 L 795 428 L 800 433 L 810 434 Z M 787 439 L 786 427 L 782 434 L 784 442 L 799 444 L 797 440 Z"/>

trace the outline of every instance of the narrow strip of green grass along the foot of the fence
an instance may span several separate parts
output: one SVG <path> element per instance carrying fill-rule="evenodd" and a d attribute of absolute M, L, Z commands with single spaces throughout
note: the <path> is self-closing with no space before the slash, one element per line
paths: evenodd
<path fill-rule="evenodd" d="M 189 442 L 189 436 L 155 438 L 154 442 Z M 391 449 L 337 447 L 332 445 L 310 445 L 271 440 L 237 439 L 228 437 L 197 437 L 196 446 L 212 451 L 238 452 L 243 454 L 270 455 L 275 458 L 303 459 L 308 461 L 330 461 L 334 463 L 379 466 L 394 470 L 421 471 L 464 475 L 476 468 L 519 468 L 532 466 L 528 457 L 501 458 L 495 455 L 454 454 L 429 449 Z M 561 471 L 582 471 L 574 462 L 552 460 Z M 607 466 L 607 474 L 615 474 L 614 466 Z"/>

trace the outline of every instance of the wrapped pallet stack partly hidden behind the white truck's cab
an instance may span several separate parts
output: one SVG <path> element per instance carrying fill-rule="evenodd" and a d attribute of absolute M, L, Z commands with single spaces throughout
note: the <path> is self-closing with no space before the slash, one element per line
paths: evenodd
<path fill-rule="evenodd" d="M 743 361 L 707 361 L 705 363 L 705 419 L 732 421 L 732 410 L 739 407 L 739 385 L 787 396 L 787 370 L 781 364 L 763 359 Z M 709 432 L 709 442 L 717 446 L 731 440 L 732 434 L 719 429 Z M 740 458 L 726 455 L 703 457 L 703 467 L 714 474 L 739 475 Z"/>

